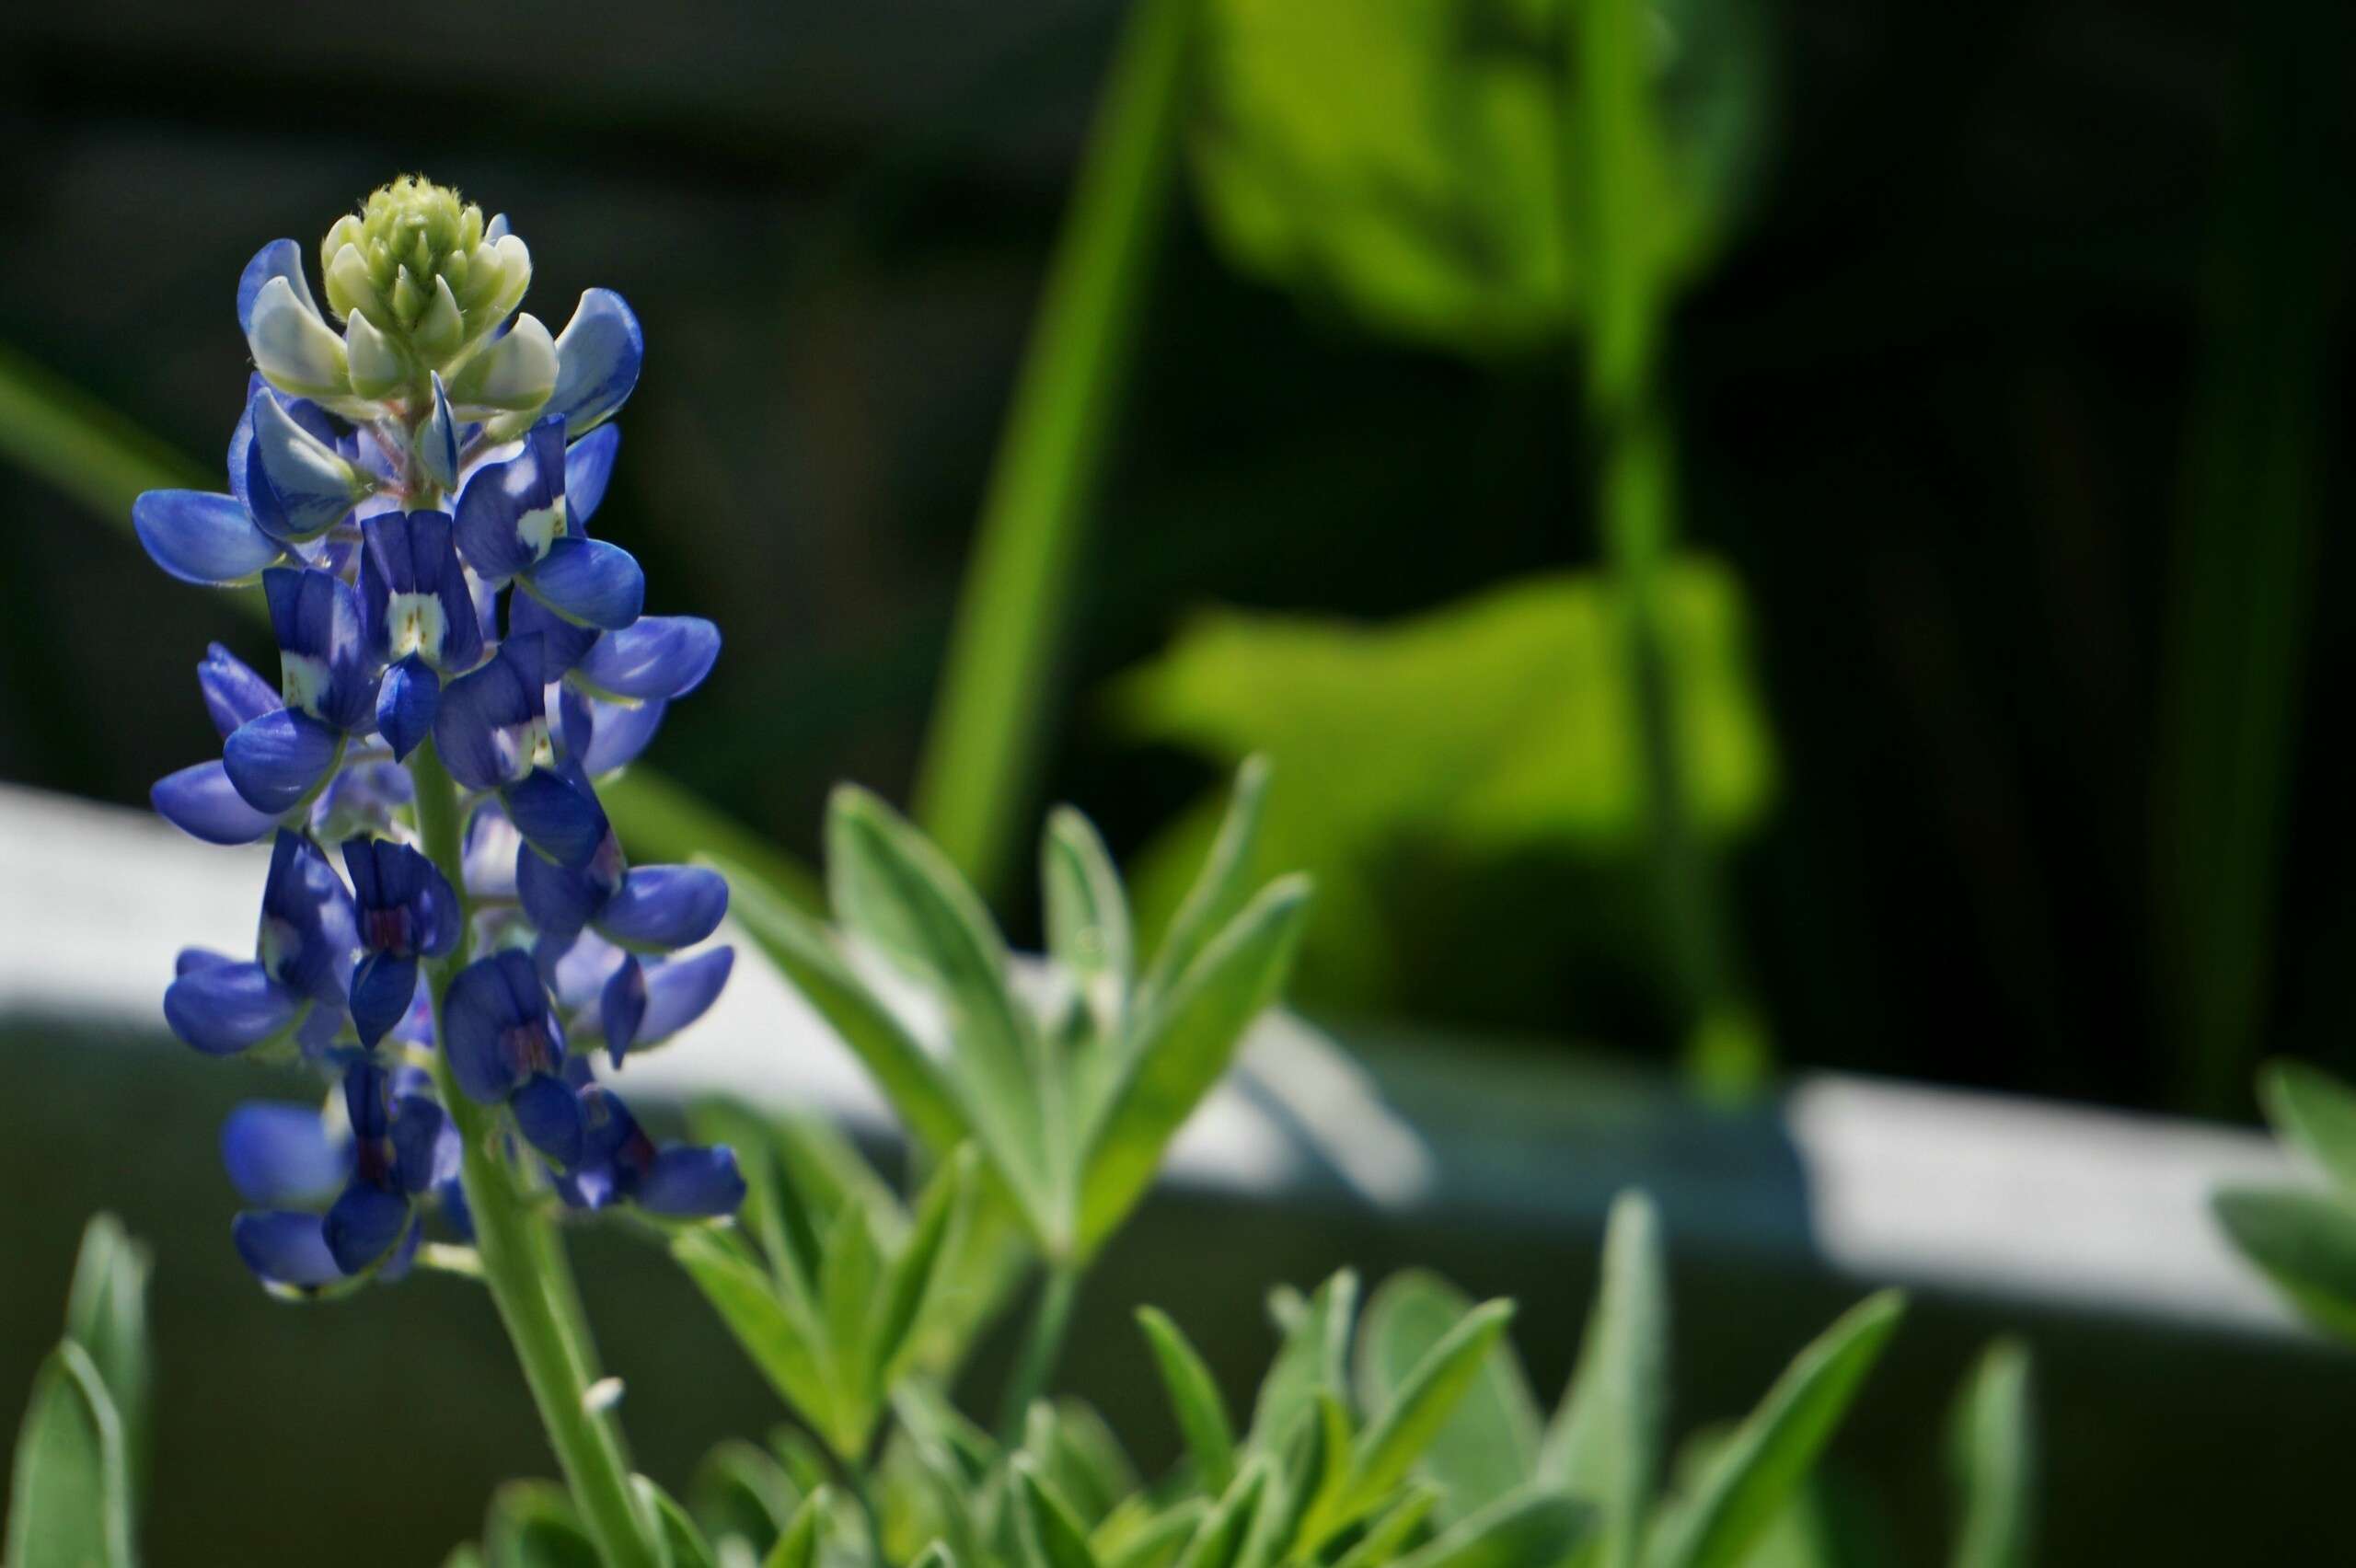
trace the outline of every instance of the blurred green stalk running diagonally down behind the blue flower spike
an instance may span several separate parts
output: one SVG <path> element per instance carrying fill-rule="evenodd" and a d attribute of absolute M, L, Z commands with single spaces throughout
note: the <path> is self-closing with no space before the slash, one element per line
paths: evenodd
<path fill-rule="evenodd" d="M 221 473 L 174 452 L 97 398 L 0 346 L 0 454 L 45 478 L 104 523 L 130 534 L 141 490 L 214 490 Z M 217 596 L 262 619 L 262 596 Z M 728 855 L 759 869 L 803 909 L 825 906 L 818 878 L 735 817 L 671 784 L 643 763 L 608 779 L 598 800 L 622 843 L 646 859 Z"/>

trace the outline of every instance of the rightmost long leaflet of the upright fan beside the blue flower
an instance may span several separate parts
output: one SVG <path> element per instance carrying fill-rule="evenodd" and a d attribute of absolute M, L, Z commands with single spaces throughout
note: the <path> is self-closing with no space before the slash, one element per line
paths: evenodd
<path fill-rule="evenodd" d="M 1079 1255 L 1121 1224 L 1162 1165 L 1162 1151 L 1211 1085 L 1244 1029 L 1275 1001 L 1301 939 L 1310 885 L 1277 878 L 1218 935 L 1185 977 L 1154 1003 L 1088 1140 L 1081 1165 Z"/>

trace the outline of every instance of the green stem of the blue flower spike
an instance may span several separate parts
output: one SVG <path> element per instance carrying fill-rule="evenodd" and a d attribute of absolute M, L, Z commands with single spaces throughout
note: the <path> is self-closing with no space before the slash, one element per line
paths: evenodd
<path fill-rule="evenodd" d="M 457 784 L 426 742 L 410 758 L 410 782 L 417 793 L 417 831 L 424 852 L 464 897 L 459 864 Z M 434 1034 L 441 1038 L 443 996 L 450 977 L 466 963 L 466 937 L 457 951 L 426 968 L 434 996 Z M 466 1208 L 474 1215 L 476 1255 L 483 1283 L 499 1309 L 499 1323 L 523 1363 L 523 1382 L 532 1389 L 549 1446 L 573 1488 L 573 1504 L 596 1540 L 598 1556 L 610 1568 L 655 1568 L 660 1556 L 653 1530 L 629 1476 L 629 1453 L 610 1413 L 591 1413 L 584 1403 L 596 1382 L 596 1347 L 582 1316 L 573 1267 L 565 1262 L 556 1227 L 537 1215 L 518 1191 L 514 1170 L 502 1156 L 497 1109 L 469 1099 L 450 1074 L 450 1057 L 434 1050 L 434 1081 L 443 1107 L 457 1123 L 464 1147 L 462 1180 Z"/>

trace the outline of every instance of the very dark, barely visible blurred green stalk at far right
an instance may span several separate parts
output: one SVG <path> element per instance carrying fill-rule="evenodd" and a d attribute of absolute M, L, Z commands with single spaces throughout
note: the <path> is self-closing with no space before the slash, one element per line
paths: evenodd
<path fill-rule="evenodd" d="M 2219 170 L 2184 513 L 2170 563 L 2153 782 L 2156 977 L 2177 1104 L 2248 1114 L 2314 600 L 2340 82 L 2297 16 L 2245 12 Z"/>

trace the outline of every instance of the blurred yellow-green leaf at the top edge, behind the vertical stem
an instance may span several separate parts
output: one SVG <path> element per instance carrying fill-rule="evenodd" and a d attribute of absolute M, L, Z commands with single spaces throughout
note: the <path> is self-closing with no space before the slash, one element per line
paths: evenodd
<path fill-rule="evenodd" d="M 1194 186 L 1227 257 L 1376 330 L 1470 353 L 1586 311 L 1564 120 L 1567 0 L 1211 0 Z M 1762 151 L 1751 0 L 1661 0 L 1666 148 L 1647 266 L 1689 278 Z"/>

